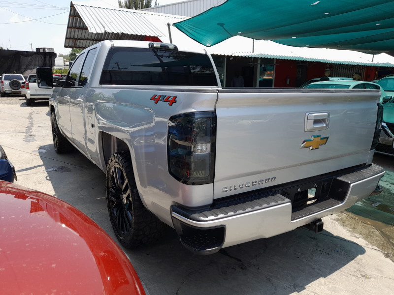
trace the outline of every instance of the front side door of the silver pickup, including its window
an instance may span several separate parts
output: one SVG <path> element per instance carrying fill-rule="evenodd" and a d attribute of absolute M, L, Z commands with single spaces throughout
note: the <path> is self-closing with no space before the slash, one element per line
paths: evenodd
<path fill-rule="evenodd" d="M 75 61 L 72 63 L 70 70 L 66 77 L 65 86 L 58 92 L 58 125 L 62 129 L 63 133 L 72 140 L 71 135 L 71 118 L 70 118 L 70 99 L 78 95 L 79 90 L 76 87 L 77 79 L 80 73 L 81 65 L 84 60 L 85 53 L 80 54 Z"/>

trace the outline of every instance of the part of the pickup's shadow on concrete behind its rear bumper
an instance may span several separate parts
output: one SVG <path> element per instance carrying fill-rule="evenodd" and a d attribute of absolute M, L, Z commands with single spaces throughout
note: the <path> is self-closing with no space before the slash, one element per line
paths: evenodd
<path fill-rule="evenodd" d="M 207 290 L 226 295 L 289 295 L 365 253 L 359 244 L 340 236 L 306 229 L 232 246 L 209 256 L 193 255 L 183 248 L 172 230 L 157 245 L 125 251 L 150 294 L 177 295 L 205 294 Z"/>

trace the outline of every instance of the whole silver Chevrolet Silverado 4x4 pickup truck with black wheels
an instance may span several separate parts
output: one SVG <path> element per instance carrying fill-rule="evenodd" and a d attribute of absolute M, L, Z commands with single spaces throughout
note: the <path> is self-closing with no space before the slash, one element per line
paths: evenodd
<path fill-rule="evenodd" d="M 52 71 L 37 69 L 38 84 Z M 378 194 L 378 90 L 222 88 L 204 50 L 102 41 L 79 54 L 49 101 L 58 153 L 106 174 L 126 247 L 173 227 L 210 254 L 308 227 Z"/>

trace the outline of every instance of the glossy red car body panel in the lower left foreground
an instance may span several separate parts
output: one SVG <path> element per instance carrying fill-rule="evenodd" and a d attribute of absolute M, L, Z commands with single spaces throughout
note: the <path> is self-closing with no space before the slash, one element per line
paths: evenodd
<path fill-rule="evenodd" d="M 122 249 L 50 195 L 0 180 L 0 294 L 145 294 Z"/>

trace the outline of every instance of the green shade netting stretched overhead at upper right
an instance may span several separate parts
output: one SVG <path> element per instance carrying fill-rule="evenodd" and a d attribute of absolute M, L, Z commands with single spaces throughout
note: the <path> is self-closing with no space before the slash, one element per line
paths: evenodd
<path fill-rule="evenodd" d="M 205 46 L 240 35 L 381 53 L 394 50 L 394 0 L 227 0 L 173 26 Z"/>

